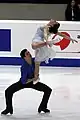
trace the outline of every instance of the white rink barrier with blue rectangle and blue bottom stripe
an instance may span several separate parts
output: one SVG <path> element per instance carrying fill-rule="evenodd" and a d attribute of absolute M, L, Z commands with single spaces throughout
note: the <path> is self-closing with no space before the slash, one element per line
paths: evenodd
<path fill-rule="evenodd" d="M 49 21 L 43 20 L 0 20 L 0 65 L 21 65 L 20 51 L 27 48 L 32 57 L 32 38 L 36 29 Z M 76 40 L 80 40 L 80 22 L 59 21 L 60 32 L 65 32 Z M 8 31 L 8 33 L 7 33 Z M 49 64 L 41 66 L 80 67 L 80 43 L 69 44 L 65 49 L 54 46 L 56 57 Z"/>

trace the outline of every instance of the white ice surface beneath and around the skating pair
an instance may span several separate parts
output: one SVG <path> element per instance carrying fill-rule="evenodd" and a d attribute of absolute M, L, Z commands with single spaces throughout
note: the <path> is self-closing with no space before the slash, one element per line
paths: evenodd
<path fill-rule="evenodd" d="M 4 90 L 19 78 L 19 66 L 0 66 L 0 112 L 5 109 Z M 0 120 L 80 120 L 80 68 L 41 67 L 40 79 L 53 89 L 51 113 L 37 113 L 43 93 L 23 89 L 13 96 L 13 115 L 0 115 Z"/>

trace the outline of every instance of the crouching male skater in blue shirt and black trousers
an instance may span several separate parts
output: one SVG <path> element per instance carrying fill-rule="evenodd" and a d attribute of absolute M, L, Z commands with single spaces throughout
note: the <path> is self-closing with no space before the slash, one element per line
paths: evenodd
<path fill-rule="evenodd" d="M 13 105 L 12 105 L 13 94 L 24 88 L 33 88 L 35 90 L 44 92 L 42 101 L 38 108 L 38 112 L 40 113 L 41 111 L 43 111 L 44 113 L 47 113 L 47 112 L 49 113 L 50 110 L 47 109 L 47 103 L 48 103 L 52 89 L 41 82 L 37 82 L 36 84 L 33 84 L 33 81 L 35 81 L 34 60 L 32 59 L 32 56 L 27 49 L 23 49 L 20 52 L 20 56 L 23 59 L 23 64 L 21 66 L 21 78 L 18 82 L 12 84 L 5 90 L 6 109 L 2 111 L 1 114 L 4 114 L 4 115 L 8 113 L 13 114 Z M 38 77 L 39 75 L 37 76 L 36 79 L 38 79 Z"/>

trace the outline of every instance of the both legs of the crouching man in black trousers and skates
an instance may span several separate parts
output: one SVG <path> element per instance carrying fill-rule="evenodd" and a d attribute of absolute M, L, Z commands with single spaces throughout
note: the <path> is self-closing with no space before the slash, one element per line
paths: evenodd
<path fill-rule="evenodd" d="M 12 84 L 10 87 L 8 87 L 5 90 L 5 98 L 6 98 L 6 109 L 1 112 L 1 114 L 13 114 L 13 107 L 12 107 L 12 97 L 13 94 L 23 88 L 33 88 L 36 89 L 38 91 L 43 91 L 44 95 L 43 95 L 43 99 L 42 102 L 39 106 L 38 112 L 44 111 L 44 112 L 49 112 L 49 110 L 47 109 L 47 103 L 48 103 L 48 99 L 50 97 L 51 91 L 52 89 L 49 88 L 47 85 L 38 82 L 37 84 L 33 85 L 33 82 L 30 82 L 28 84 L 23 85 L 20 81 L 17 83 Z"/>

